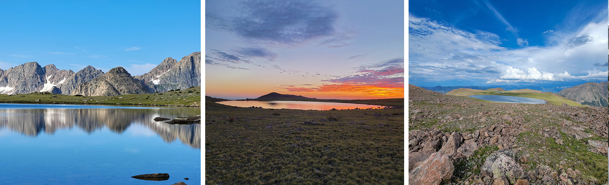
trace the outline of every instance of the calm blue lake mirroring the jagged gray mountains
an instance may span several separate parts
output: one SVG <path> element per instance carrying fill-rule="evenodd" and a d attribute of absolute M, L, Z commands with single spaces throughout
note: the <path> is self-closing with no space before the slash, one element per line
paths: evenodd
<path fill-rule="evenodd" d="M 200 184 L 200 108 L 0 103 L 0 184 Z M 169 173 L 166 181 L 131 176 Z M 183 178 L 189 178 L 184 180 Z"/>

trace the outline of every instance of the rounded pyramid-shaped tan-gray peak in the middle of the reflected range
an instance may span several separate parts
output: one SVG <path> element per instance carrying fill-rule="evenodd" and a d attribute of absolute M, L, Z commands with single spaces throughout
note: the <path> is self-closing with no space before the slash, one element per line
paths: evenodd
<path fill-rule="evenodd" d="M 91 82 L 80 84 L 72 95 L 82 96 L 118 96 L 121 94 L 147 94 L 150 88 L 143 85 L 139 80 L 122 67 L 110 69 L 106 74 L 91 80 Z"/>

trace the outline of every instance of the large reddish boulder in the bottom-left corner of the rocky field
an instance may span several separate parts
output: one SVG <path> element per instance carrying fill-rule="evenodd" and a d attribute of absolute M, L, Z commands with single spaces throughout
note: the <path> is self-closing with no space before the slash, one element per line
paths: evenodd
<path fill-rule="evenodd" d="M 452 177 L 454 166 L 452 160 L 436 152 L 429 155 L 429 158 L 409 172 L 409 184 L 411 185 L 438 185 L 448 183 Z"/>

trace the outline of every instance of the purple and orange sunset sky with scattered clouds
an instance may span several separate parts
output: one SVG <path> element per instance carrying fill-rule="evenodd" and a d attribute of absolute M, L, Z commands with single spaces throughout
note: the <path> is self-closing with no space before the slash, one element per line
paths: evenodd
<path fill-rule="evenodd" d="M 206 96 L 404 97 L 404 1 L 206 1 Z"/>

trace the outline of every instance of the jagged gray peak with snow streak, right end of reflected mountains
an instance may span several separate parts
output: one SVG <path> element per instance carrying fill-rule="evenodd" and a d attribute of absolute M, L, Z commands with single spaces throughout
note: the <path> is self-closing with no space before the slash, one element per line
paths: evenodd
<path fill-rule="evenodd" d="M 147 74 L 136 76 L 136 79 L 152 88 L 153 92 L 201 85 L 201 52 L 194 52 L 171 65 L 174 61 L 172 58 L 166 58 L 157 68 Z"/>

